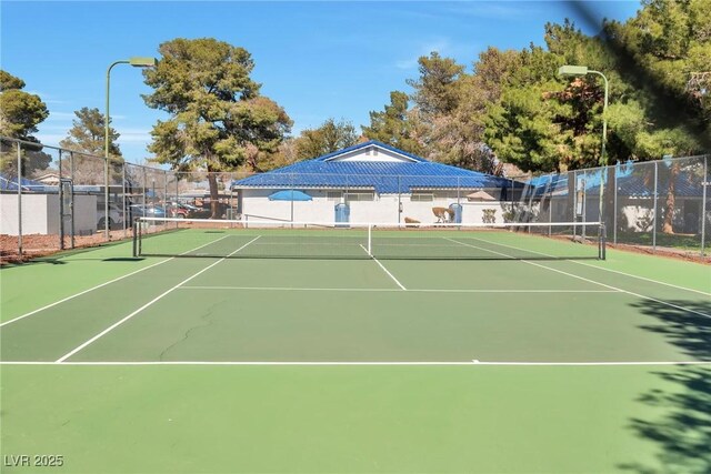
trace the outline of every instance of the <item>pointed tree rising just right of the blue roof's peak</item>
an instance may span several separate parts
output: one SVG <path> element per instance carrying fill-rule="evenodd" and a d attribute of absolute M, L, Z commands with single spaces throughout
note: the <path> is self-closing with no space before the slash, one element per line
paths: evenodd
<path fill-rule="evenodd" d="M 370 140 L 421 154 L 423 148 L 415 139 L 414 128 L 414 119 L 408 113 L 408 94 L 400 91 L 390 92 L 390 104 L 382 112 L 370 112 L 370 127 L 361 127 Z"/>

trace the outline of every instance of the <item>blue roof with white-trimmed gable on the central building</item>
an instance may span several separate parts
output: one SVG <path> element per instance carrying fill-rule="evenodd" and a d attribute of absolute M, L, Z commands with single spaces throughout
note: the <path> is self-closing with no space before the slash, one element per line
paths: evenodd
<path fill-rule="evenodd" d="M 411 161 L 332 161 L 336 157 L 375 145 L 401 154 Z M 374 189 L 381 194 L 419 189 L 495 189 L 522 188 L 522 183 L 477 171 L 434 163 L 384 143 L 369 141 L 324 154 L 313 160 L 254 174 L 233 181 L 232 188 L 299 188 L 299 189 Z"/>

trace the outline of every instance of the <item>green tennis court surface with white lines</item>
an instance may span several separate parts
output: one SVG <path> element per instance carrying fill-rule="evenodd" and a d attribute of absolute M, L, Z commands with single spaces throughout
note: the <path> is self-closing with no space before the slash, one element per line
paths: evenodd
<path fill-rule="evenodd" d="M 457 231 L 142 243 L 186 255 L 0 271 L 2 472 L 711 472 L 708 265 Z"/>

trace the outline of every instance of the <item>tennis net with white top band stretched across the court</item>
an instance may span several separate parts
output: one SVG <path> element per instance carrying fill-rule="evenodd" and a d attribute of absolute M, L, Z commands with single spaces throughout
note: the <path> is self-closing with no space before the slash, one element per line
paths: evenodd
<path fill-rule="evenodd" d="M 604 259 L 600 223 L 399 224 L 139 218 L 134 256 Z"/>

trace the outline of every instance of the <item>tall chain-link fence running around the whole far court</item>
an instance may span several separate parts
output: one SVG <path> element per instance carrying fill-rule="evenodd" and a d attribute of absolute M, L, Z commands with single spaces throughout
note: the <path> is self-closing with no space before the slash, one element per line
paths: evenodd
<path fill-rule="evenodd" d="M 472 178 L 186 173 L 111 161 L 107 188 L 103 157 L 0 138 L 0 238 L 3 259 L 22 260 L 128 239 L 138 216 L 246 224 L 604 222 L 612 245 L 708 259 L 709 164 L 701 155 Z"/>

